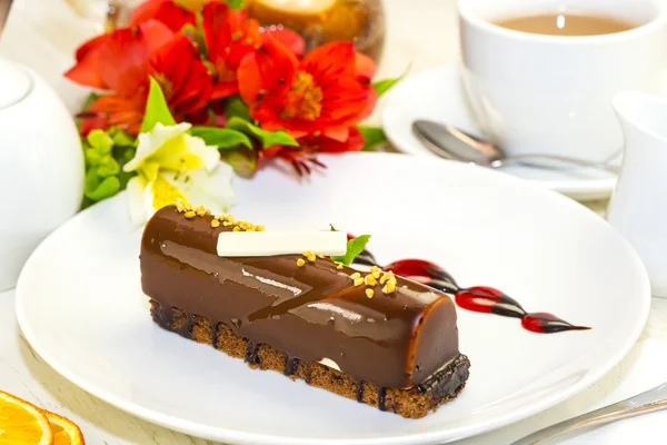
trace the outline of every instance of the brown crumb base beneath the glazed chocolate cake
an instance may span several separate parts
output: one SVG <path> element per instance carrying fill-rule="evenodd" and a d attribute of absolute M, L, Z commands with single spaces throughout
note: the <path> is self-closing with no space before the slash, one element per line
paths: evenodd
<path fill-rule="evenodd" d="M 378 388 L 369 382 L 357 383 L 347 374 L 317 362 L 289 359 L 281 350 L 269 345 L 253 345 L 247 338 L 237 335 L 225 323 L 211 326 L 208 318 L 187 314 L 179 308 L 162 307 L 153 299 L 151 316 L 160 327 L 213 346 L 216 349 L 236 358 L 245 359 L 252 368 L 271 369 L 287 375 L 292 380 L 300 378 L 308 385 L 356 399 L 360 403 L 396 413 L 406 418 L 420 418 L 440 405 L 452 400 L 466 386 L 470 362 L 459 355 L 442 370 L 428 387 Z"/>

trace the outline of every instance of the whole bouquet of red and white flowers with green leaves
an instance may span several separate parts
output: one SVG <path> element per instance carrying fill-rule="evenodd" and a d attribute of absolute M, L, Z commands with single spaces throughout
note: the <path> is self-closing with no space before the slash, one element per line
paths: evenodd
<path fill-rule="evenodd" d="M 93 92 L 77 116 L 87 161 L 84 205 L 128 189 L 138 224 L 185 201 L 225 211 L 232 170 L 268 158 L 300 175 L 320 152 L 384 140 L 359 123 L 398 79 L 351 41 L 305 53 L 283 27 L 260 27 L 239 1 L 148 0 L 127 28 L 84 42 L 70 80 Z"/>

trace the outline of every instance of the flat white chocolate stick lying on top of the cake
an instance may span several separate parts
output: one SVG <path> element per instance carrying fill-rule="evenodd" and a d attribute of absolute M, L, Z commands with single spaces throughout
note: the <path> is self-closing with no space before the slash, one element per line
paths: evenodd
<path fill-rule="evenodd" d="M 221 231 L 220 257 L 268 257 L 273 255 L 316 254 L 340 256 L 347 253 L 345 231 Z"/>

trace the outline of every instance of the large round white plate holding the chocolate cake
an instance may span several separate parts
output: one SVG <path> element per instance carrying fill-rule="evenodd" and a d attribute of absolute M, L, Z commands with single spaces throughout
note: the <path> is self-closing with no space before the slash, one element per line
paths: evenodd
<path fill-rule="evenodd" d="M 232 444 L 432 444 L 527 417 L 578 393 L 646 322 L 646 273 L 603 219 L 558 194 L 474 166 L 404 155 L 322 157 L 310 184 L 279 169 L 236 180 L 235 216 L 271 228 L 371 233 L 382 263 L 421 257 L 462 285 L 593 326 L 539 335 L 459 314 L 471 375 L 455 402 L 404 419 L 273 372 L 252 370 L 153 325 L 126 196 L 83 211 L 33 254 L 17 288 L 26 338 L 64 377 L 157 424 Z"/>

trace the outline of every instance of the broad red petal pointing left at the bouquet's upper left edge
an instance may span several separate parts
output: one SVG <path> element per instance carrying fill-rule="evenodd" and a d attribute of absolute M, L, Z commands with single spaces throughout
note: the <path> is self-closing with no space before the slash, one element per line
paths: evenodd
<path fill-rule="evenodd" d="M 155 20 L 99 36 L 79 47 L 77 65 L 64 76 L 87 87 L 117 90 L 121 75 L 172 39 L 173 32 Z"/>

